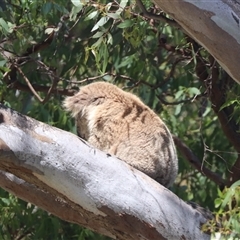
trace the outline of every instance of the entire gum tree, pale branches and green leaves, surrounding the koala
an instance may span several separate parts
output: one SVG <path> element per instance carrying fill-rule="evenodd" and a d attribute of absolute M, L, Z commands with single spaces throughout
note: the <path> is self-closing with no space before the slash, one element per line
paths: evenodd
<path fill-rule="evenodd" d="M 174 4 L 2 1 L 0 98 L 21 114 L 74 132 L 73 121 L 61 108 L 64 96 L 100 79 L 134 92 L 174 134 L 179 176 L 171 191 L 184 201 L 216 212 L 221 228 L 218 225 L 216 229 L 213 221 L 202 230 L 236 236 L 240 231 L 238 3 L 219 0 L 194 4 L 180 0 Z M 199 209 L 119 160 L 97 150 L 91 155 L 91 147 L 77 137 L 21 114 L 1 107 L 3 189 L 66 221 L 112 238 L 209 237 L 198 229 L 206 222 Z M 73 145 L 82 155 L 72 154 Z M 91 167 L 81 173 L 75 168 L 79 159 L 98 173 L 101 166 L 108 169 L 103 171 L 106 175 L 99 185 L 95 185 L 96 178 L 88 178 Z M 101 160 L 102 165 L 96 166 L 90 159 Z M 75 165 L 68 164 L 72 161 Z M 120 172 L 126 172 L 114 179 L 115 185 L 109 185 L 114 171 L 111 161 L 119 165 Z M 138 183 L 133 181 L 136 177 Z M 141 199 L 139 191 L 133 195 L 132 190 L 111 189 L 122 179 L 127 181 L 126 186 L 133 186 L 131 189 L 140 182 L 145 186 L 142 189 L 155 196 L 156 203 L 160 201 L 162 211 L 156 211 L 149 195 Z M 123 196 L 132 197 L 128 205 L 124 205 L 124 198 L 119 201 L 123 192 Z M 8 239 L 95 237 L 4 191 L 0 206 L 2 234 Z M 178 218 L 172 219 L 177 213 Z M 156 221 L 148 221 L 148 217 Z M 189 232 L 192 235 L 187 235 Z"/>

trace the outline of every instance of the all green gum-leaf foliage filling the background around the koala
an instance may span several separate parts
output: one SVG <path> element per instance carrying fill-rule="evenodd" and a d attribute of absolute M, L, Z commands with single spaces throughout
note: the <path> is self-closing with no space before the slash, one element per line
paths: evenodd
<path fill-rule="evenodd" d="M 150 1 L 144 3 L 149 12 L 167 19 Z M 201 166 L 221 179 L 231 178 L 238 149 L 221 130 L 218 113 L 227 114 L 239 133 L 239 86 L 181 30 L 145 18 L 135 1 L 5 0 L 0 7 L 0 101 L 5 105 L 75 131 L 61 108 L 63 97 L 94 80 L 113 82 L 136 93 L 160 114 Z M 209 77 L 214 68 L 218 69 L 216 85 L 222 86 L 219 102 L 212 96 L 215 80 Z M 200 73 L 207 78 L 201 79 Z M 184 200 L 218 211 L 216 216 L 231 216 L 220 231 L 240 232 L 234 207 L 238 205 L 230 204 L 227 190 L 219 190 L 228 184 L 218 187 L 178 150 L 179 176 L 172 190 Z M 239 186 L 234 189 L 230 198 L 239 203 Z M 21 234 L 25 239 L 100 239 L 3 191 L 0 196 L 4 239 Z M 45 235 L 50 233 L 43 226 L 51 226 L 51 236 Z"/>

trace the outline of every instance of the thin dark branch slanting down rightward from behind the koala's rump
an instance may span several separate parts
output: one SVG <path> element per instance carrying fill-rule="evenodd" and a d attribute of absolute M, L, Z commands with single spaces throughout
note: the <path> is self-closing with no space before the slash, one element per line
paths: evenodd
<path fill-rule="evenodd" d="M 226 185 L 226 181 L 216 173 L 212 172 L 211 170 L 203 166 L 201 161 L 197 158 L 197 156 L 194 155 L 192 150 L 186 144 L 184 144 L 178 137 L 173 136 L 173 140 L 176 146 L 178 147 L 178 150 L 194 168 L 196 168 L 200 173 L 211 179 L 218 186 L 223 187 Z"/>

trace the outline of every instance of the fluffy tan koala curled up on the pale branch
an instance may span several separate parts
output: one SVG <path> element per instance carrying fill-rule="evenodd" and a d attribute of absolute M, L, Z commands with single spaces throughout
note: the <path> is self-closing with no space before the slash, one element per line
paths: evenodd
<path fill-rule="evenodd" d="M 178 172 L 172 136 L 163 121 L 137 96 L 106 82 L 80 88 L 63 102 L 78 135 L 169 187 Z"/>

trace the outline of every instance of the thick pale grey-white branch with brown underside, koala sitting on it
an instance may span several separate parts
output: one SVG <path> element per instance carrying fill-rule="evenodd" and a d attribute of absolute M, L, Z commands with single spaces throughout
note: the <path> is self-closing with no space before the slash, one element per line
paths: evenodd
<path fill-rule="evenodd" d="M 6 182 L 22 185 L 25 200 L 38 205 L 26 189 L 44 189 L 49 201 L 60 198 L 63 209 L 78 213 L 75 222 L 112 238 L 209 239 L 199 230 L 204 217 L 145 174 L 71 133 L 3 107 L 0 169 L 24 180 L 1 172 Z M 2 187 L 14 192 L 6 182 Z"/>

